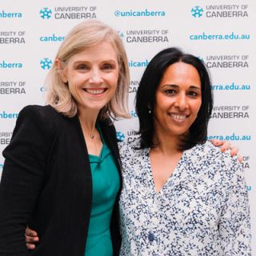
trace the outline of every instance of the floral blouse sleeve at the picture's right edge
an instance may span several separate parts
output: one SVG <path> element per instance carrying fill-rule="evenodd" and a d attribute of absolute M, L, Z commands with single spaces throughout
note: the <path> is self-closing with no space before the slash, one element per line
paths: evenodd
<path fill-rule="evenodd" d="M 242 166 L 233 159 L 234 177 L 219 222 L 223 255 L 251 255 L 250 208 Z"/>

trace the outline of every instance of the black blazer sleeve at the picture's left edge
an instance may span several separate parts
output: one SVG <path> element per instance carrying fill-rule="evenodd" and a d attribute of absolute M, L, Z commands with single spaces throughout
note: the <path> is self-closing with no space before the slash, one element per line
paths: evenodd
<path fill-rule="evenodd" d="M 41 106 L 41 108 L 43 108 Z M 18 115 L 0 183 L 0 255 L 27 255 L 26 224 L 37 202 L 51 136 L 40 111 L 26 106 Z"/>

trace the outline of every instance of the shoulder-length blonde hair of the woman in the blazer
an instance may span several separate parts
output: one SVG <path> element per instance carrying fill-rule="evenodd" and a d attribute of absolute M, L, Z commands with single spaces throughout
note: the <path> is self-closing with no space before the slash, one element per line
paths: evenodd
<path fill-rule="evenodd" d="M 69 59 L 87 47 L 94 46 L 100 42 L 110 42 L 118 56 L 119 77 L 118 86 L 114 97 L 102 108 L 99 118 L 129 118 L 128 94 L 130 86 L 130 72 L 126 50 L 118 33 L 110 26 L 97 20 L 81 22 L 74 26 L 66 35 L 58 49 L 55 59 L 60 60 L 64 65 Z M 46 104 L 53 106 L 58 112 L 73 117 L 78 112 L 76 102 L 70 94 L 69 87 L 62 82 L 62 70 L 54 62 L 46 77 Z"/>

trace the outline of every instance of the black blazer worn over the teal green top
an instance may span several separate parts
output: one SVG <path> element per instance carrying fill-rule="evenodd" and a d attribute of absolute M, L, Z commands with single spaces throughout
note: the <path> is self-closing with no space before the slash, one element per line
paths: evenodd
<path fill-rule="evenodd" d="M 100 126 L 121 179 L 114 125 L 105 120 Z M 3 156 L 0 255 L 84 256 L 92 180 L 78 116 L 66 118 L 51 106 L 26 106 Z M 118 198 L 111 219 L 114 255 L 121 245 Z M 40 239 L 30 252 L 24 237 L 27 224 Z"/>

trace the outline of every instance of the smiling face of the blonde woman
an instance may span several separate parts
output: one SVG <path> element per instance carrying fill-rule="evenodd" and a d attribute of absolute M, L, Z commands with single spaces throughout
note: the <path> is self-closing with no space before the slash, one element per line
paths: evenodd
<path fill-rule="evenodd" d="M 118 85 L 118 56 L 110 42 L 90 46 L 68 61 L 62 81 L 68 83 L 79 113 L 98 112 L 114 96 Z"/>

